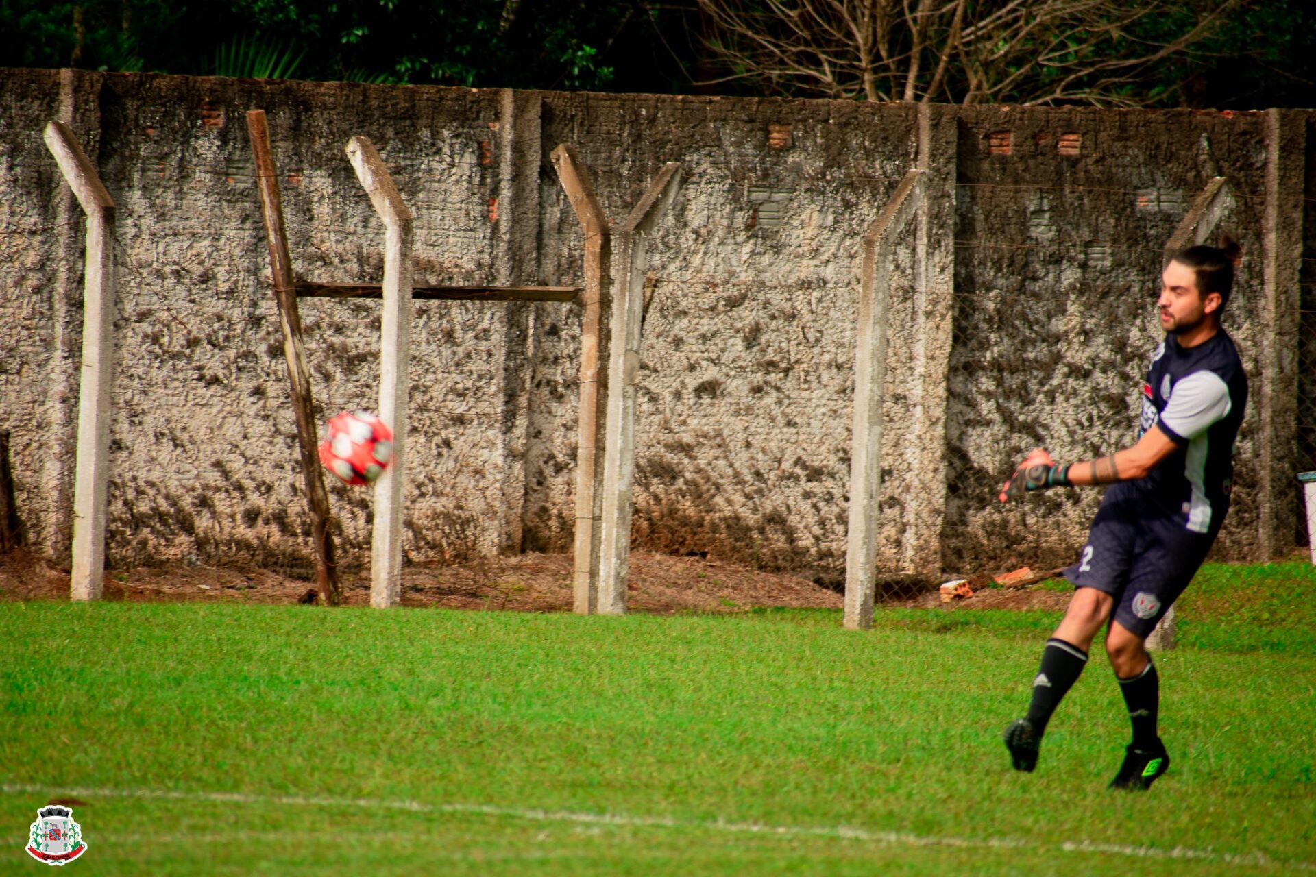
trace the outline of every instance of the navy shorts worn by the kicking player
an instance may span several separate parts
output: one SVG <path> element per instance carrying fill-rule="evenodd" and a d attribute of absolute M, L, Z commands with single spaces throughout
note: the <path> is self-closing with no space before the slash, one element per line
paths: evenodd
<path fill-rule="evenodd" d="M 1192 533 L 1186 523 L 1186 515 L 1165 514 L 1132 484 L 1112 484 L 1079 561 L 1065 569 L 1065 577 L 1075 588 L 1115 597 L 1112 618 L 1145 638 L 1192 581 L 1216 540 L 1216 527 Z"/>

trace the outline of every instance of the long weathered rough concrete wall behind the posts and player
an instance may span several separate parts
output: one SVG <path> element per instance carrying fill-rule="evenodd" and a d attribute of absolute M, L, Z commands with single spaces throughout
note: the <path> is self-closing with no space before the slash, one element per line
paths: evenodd
<path fill-rule="evenodd" d="M 375 142 L 416 214 L 417 284 L 578 284 L 582 233 L 547 162 L 559 142 L 617 221 L 682 162 L 650 245 L 636 543 L 822 580 L 844 567 L 859 238 L 920 154 L 929 251 L 911 242 L 894 266 L 879 556 L 928 575 L 1082 544 L 1095 492 L 1003 511 L 994 488 L 1034 444 L 1073 459 L 1132 439 L 1161 247 L 1223 174 L 1236 192 L 1224 226 L 1248 247 L 1227 325 L 1267 401 L 1250 406 L 1221 552 L 1294 540 L 1296 400 L 1311 392 L 1296 360 L 1308 184 L 1292 130 L 1305 114 L 920 114 L 9 70 L 0 429 L 50 556 L 70 540 L 82 317 L 80 212 L 41 141 L 63 118 L 118 204 L 111 564 L 309 568 L 250 108 L 268 114 L 293 264 L 312 280 L 382 275 L 383 227 L 343 154 L 353 134 Z M 921 266 L 945 283 L 924 292 Z M 378 302 L 303 300 L 301 313 L 322 413 L 374 406 Z M 575 305 L 417 304 L 408 557 L 570 548 L 579 338 Z M 349 561 L 368 551 L 368 498 L 330 486 Z"/>

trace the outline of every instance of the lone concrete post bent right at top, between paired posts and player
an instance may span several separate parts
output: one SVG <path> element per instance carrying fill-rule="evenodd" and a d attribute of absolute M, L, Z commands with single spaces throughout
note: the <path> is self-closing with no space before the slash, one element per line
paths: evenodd
<path fill-rule="evenodd" d="M 873 626 L 891 252 L 896 235 L 920 206 L 924 175 L 925 171 L 908 171 L 863 235 L 854 363 L 854 426 L 850 439 L 850 526 L 845 554 L 844 625 L 851 630 Z"/>

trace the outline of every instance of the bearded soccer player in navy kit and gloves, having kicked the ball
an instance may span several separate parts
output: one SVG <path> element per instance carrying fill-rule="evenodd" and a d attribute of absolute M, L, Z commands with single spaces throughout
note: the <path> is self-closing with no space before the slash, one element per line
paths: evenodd
<path fill-rule="evenodd" d="M 1078 563 L 1065 571 L 1074 596 L 1042 650 L 1028 715 L 1005 728 L 1016 770 L 1033 770 L 1046 723 L 1087 664 L 1103 625 L 1133 740 L 1112 789 L 1145 790 L 1170 767 L 1157 734 L 1159 681 L 1145 642 L 1192 580 L 1229 510 L 1233 447 L 1248 404 L 1248 379 L 1220 327 L 1241 247 L 1195 246 L 1161 275 L 1165 341 L 1142 387 L 1132 447 L 1058 465 L 1033 451 L 1001 488 L 1001 502 L 1030 490 L 1111 484 Z"/>

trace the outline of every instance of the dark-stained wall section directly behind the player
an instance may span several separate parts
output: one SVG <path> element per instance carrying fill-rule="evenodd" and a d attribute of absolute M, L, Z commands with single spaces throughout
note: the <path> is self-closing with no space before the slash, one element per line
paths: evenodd
<path fill-rule="evenodd" d="M 1073 556 L 1073 534 L 1091 519 L 1098 492 L 1054 490 L 1007 514 L 984 506 L 983 494 L 1032 447 L 1090 459 L 1134 439 L 1138 391 L 1162 337 L 1154 308 L 1162 249 L 1216 175 L 1228 178 L 1234 205 L 1220 227 L 1246 254 L 1224 323 L 1252 377 L 1221 546 L 1250 556 L 1263 114 L 975 108 L 959 121 L 946 565 L 999 546 L 1017 546 L 1034 563 Z"/>

